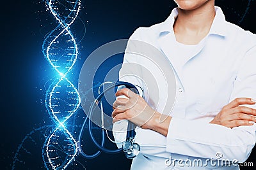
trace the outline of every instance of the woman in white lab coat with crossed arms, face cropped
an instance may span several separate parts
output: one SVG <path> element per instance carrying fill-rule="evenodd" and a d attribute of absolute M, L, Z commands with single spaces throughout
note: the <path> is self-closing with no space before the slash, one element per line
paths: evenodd
<path fill-rule="evenodd" d="M 130 38 L 159 48 L 177 84 L 172 113 L 163 122 L 159 110 L 142 97 L 128 89 L 116 92 L 126 98 L 117 97 L 113 104 L 113 122 L 130 120 L 140 127 L 141 153 L 131 169 L 239 169 L 228 162 L 246 161 L 255 145 L 256 36 L 227 22 L 214 0 L 175 3 L 178 7 L 163 23 L 140 27 Z M 147 63 L 125 53 L 124 64 L 129 62 Z M 141 85 L 129 76 L 120 80 Z M 191 164 L 195 161 L 202 164 Z"/>

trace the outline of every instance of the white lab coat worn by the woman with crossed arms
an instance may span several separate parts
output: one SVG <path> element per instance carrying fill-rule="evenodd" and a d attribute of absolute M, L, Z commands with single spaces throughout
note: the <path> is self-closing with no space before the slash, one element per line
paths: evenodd
<path fill-rule="evenodd" d="M 221 153 L 221 160 L 244 162 L 255 145 L 255 125 L 230 129 L 209 124 L 223 106 L 237 97 L 256 99 L 255 34 L 225 21 L 223 12 L 216 7 L 216 17 L 209 34 L 190 56 L 180 60 L 175 50 L 172 27 L 177 15 L 177 9 L 174 9 L 163 23 L 140 27 L 130 38 L 150 43 L 163 52 L 175 73 L 177 89 L 166 137 L 148 129 L 136 129 L 136 142 L 140 144 L 141 152 L 132 161 L 131 169 L 239 169 L 238 166 L 211 164 L 204 167 L 164 164 L 170 157 L 171 160 L 201 159 L 204 162 L 206 159 L 216 159 L 216 153 Z M 161 87 L 161 76 L 143 57 L 125 53 L 124 64 L 131 62 L 150 69 L 152 77 L 159 82 L 157 111 L 161 113 L 166 95 L 165 87 Z M 120 80 L 144 88 L 145 85 L 138 78 L 122 77 L 129 74 L 127 68 L 125 73 L 122 71 L 124 67 L 120 71 Z M 136 71 L 141 74 L 139 67 L 132 67 L 130 71 L 131 74 L 136 74 Z M 150 94 L 146 98 L 147 101 L 154 101 L 154 96 Z M 117 122 L 114 129 L 121 123 Z M 121 133 L 114 135 L 119 141 L 125 136 Z"/>

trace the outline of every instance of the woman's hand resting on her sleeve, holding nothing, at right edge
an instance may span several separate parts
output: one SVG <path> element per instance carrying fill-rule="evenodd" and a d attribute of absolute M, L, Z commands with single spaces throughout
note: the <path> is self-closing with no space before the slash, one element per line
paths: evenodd
<path fill-rule="evenodd" d="M 256 122 L 256 110 L 240 105 L 255 103 L 256 102 L 250 98 L 234 99 L 234 101 L 224 106 L 210 123 L 230 128 L 241 125 L 253 125 Z"/>

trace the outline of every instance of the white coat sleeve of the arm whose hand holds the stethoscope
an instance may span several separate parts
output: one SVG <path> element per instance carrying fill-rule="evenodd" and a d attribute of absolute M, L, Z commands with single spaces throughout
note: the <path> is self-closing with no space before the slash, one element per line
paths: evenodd
<path fill-rule="evenodd" d="M 255 63 L 256 46 L 253 46 L 243 57 L 230 101 L 237 97 L 256 99 Z M 216 153 L 222 153 L 222 159 L 244 162 L 255 145 L 255 130 L 255 125 L 230 129 L 173 117 L 166 136 L 166 151 L 209 159 L 216 159 Z"/>

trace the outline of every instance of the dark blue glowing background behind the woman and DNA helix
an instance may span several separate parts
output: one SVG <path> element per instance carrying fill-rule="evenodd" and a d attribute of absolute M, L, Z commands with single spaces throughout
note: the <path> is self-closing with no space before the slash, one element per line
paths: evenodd
<path fill-rule="evenodd" d="M 244 15 L 249 2 L 248 12 Z M 223 8 L 228 21 L 256 32 L 255 1 L 216 0 L 216 4 Z M 79 69 L 93 50 L 109 41 L 129 38 L 140 26 L 163 22 L 170 15 L 175 3 L 170 0 L 82 0 L 82 6 L 79 17 L 86 27 L 85 36 L 83 37 L 83 22 L 77 20 L 72 26 L 72 31 L 76 32 L 75 36 L 81 40 L 80 59 L 74 67 L 74 74 L 70 76 L 75 84 Z M 2 1 L 0 13 L 0 169 L 12 169 L 13 157 L 24 136 L 31 131 L 37 132 L 38 127 L 54 124 L 45 111 L 44 97 L 45 88 L 49 85 L 47 82 L 54 78 L 55 72 L 42 54 L 42 43 L 44 35 L 54 28 L 56 22 L 49 11 L 45 11 L 45 5 L 40 1 Z M 79 114 L 81 117 L 83 111 L 80 110 L 77 115 Z M 79 122 L 77 119 L 77 125 L 81 125 L 81 120 Z M 40 135 L 42 136 L 38 134 Z M 29 144 L 22 148 L 29 150 L 33 147 L 33 153 L 30 155 L 20 155 L 20 158 L 28 160 L 22 169 L 44 169 L 40 148 L 43 141 L 40 143 L 42 138 L 38 136 L 33 136 L 35 140 L 38 138 L 35 144 L 37 148 Z M 95 160 L 85 160 L 78 156 L 76 162 L 68 169 L 82 169 L 83 166 L 77 162 L 81 162 L 86 169 L 129 169 L 130 164 L 122 153 L 102 154 Z M 253 151 L 247 162 L 253 162 L 256 166 L 256 151 Z"/>

